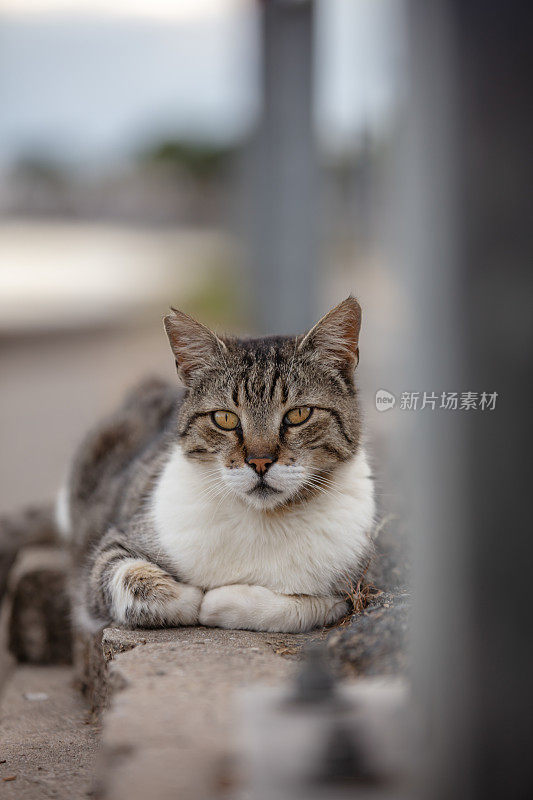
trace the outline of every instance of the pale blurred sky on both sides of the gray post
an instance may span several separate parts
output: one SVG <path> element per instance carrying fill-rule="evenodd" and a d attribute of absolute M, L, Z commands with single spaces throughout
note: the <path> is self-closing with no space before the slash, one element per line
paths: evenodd
<path fill-rule="evenodd" d="M 397 0 L 318 0 L 317 131 L 387 125 Z M 105 169 L 166 137 L 238 141 L 259 109 L 253 0 L 0 0 L 0 165 Z"/>

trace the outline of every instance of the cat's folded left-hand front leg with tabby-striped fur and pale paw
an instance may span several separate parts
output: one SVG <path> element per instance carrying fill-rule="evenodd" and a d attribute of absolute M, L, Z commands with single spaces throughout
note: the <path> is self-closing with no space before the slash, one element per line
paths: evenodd
<path fill-rule="evenodd" d="M 88 595 L 93 614 L 130 627 L 195 625 L 203 599 L 196 586 L 176 581 L 119 538 L 106 537 L 94 555 Z"/>

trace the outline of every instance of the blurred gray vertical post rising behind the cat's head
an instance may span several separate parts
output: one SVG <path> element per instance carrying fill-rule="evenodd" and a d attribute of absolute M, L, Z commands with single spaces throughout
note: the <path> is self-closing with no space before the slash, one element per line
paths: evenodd
<path fill-rule="evenodd" d="M 311 0 L 261 3 L 263 110 L 251 153 L 255 326 L 304 330 L 317 312 Z"/>

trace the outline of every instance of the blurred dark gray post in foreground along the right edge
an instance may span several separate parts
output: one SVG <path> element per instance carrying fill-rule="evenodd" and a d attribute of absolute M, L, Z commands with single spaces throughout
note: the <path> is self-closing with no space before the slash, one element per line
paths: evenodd
<path fill-rule="evenodd" d="M 410 451 L 429 750 L 420 745 L 420 796 L 523 798 L 533 787 L 531 10 L 410 0 L 408 38 L 409 389 L 478 393 L 477 410 L 417 412 Z M 479 409 L 482 392 L 498 393 L 494 411 Z"/>

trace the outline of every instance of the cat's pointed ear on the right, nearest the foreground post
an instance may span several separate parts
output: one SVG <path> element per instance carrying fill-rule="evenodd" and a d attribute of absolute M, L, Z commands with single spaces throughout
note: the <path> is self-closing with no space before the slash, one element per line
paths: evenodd
<path fill-rule="evenodd" d="M 298 349 L 342 371 L 352 372 L 359 363 L 360 329 L 361 306 L 350 295 L 311 328 Z"/>

